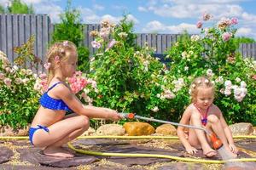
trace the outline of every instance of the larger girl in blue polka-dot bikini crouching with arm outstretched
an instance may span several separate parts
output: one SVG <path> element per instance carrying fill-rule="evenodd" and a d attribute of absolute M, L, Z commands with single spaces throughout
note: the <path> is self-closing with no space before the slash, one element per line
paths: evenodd
<path fill-rule="evenodd" d="M 29 129 L 33 145 L 48 156 L 73 157 L 62 144 L 76 139 L 90 125 L 90 118 L 114 121 L 121 117 L 111 109 L 82 105 L 65 82 L 76 71 L 78 54 L 73 42 L 56 42 L 47 54 L 48 89 L 40 99 L 40 107 Z M 66 111 L 73 111 L 68 116 Z"/>

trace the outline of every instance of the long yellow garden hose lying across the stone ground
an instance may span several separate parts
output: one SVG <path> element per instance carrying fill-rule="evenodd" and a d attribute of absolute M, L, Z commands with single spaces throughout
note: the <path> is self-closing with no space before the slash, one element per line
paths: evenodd
<path fill-rule="evenodd" d="M 256 139 L 256 136 L 234 136 L 234 139 Z M 1 136 L 0 139 L 28 139 L 27 136 Z M 80 136 L 78 139 L 178 139 L 177 136 Z M 185 158 L 178 156 L 167 156 L 160 154 L 131 154 L 131 153 L 113 153 L 113 152 L 97 152 L 90 150 L 76 149 L 70 142 L 67 143 L 68 147 L 79 153 L 94 156 L 125 156 L 125 157 L 158 157 L 167 158 L 176 161 L 191 161 L 198 163 L 215 163 L 222 164 L 225 162 L 235 162 L 235 161 L 256 161 L 256 158 L 240 158 L 240 159 L 230 159 L 228 161 L 223 160 L 206 160 L 206 159 L 195 159 L 195 158 Z"/>

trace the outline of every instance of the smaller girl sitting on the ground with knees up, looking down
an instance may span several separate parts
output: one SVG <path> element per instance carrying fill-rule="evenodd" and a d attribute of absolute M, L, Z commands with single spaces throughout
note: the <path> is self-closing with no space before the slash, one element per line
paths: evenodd
<path fill-rule="evenodd" d="M 209 132 L 214 132 L 224 144 L 230 156 L 236 157 L 237 149 L 232 138 L 230 127 L 224 120 L 218 106 L 213 105 L 214 87 L 207 77 L 195 78 L 190 86 L 192 103 L 184 111 L 180 120 L 181 124 L 190 124 L 196 127 L 205 127 Z M 189 128 L 188 139 L 185 137 L 184 127 L 177 127 L 177 135 L 189 154 L 202 149 L 207 157 L 215 156 L 217 152 L 209 144 L 207 135 L 197 129 Z"/>

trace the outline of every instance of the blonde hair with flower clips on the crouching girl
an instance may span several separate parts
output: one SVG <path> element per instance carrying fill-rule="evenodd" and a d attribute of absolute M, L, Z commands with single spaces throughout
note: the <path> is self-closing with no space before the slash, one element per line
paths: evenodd
<path fill-rule="evenodd" d="M 47 85 L 49 85 L 49 82 L 55 76 L 55 60 L 59 59 L 60 61 L 65 61 L 70 57 L 73 57 L 73 55 L 67 53 L 70 51 L 77 52 L 76 45 L 73 42 L 55 42 L 52 46 L 50 46 L 50 48 L 48 49 L 48 53 L 46 55 L 46 63 L 49 64 Z"/>

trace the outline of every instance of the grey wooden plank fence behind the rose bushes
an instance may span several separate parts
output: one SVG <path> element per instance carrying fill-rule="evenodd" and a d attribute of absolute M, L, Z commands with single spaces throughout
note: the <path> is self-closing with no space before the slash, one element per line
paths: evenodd
<path fill-rule="evenodd" d="M 34 35 L 35 54 L 44 61 L 44 54 L 46 54 L 54 27 L 47 14 L 0 14 L 0 50 L 13 62 L 17 57 L 13 48 L 22 45 Z M 96 50 L 90 44 L 93 41 L 90 31 L 99 29 L 98 24 L 84 26 L 84 46 L 90 49 L 90 54 L 94 54 Z M 178 36 L 177 34 L 142 33 L 137 34 L 136 42 L 139 46 L 148 42 L 150 47 L 156 49 L 156 54 L 163 54 L 167 48 L 171 48 L 172 44 L 177 42 Z M 256 43 L 241 44 L 238 50 L 243 57 L 256 59 Z"/>

